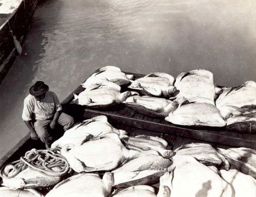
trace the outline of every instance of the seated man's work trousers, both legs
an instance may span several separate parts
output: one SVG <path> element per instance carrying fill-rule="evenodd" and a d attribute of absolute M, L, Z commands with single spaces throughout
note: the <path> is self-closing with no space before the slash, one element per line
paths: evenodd
<path fill-rule="evenodd" d="M 34 123 L 34 129 L 35 132 L 37 132 L 38 137 L 40 140 L 45 144 L 45 148 L 50 148 L 50 142 L 52 140 L 52 137 L 49 134 L 49 124 L 51 123 L 51 120 L 36 120 Z M 65 113 L 61 113 L 61 115 L 58 118 L 59 125 L 63 126 L 64 130 L 69 129 L 70 126 L 73 125 L 74 119 L 72 116 L 67 115 Z"/>

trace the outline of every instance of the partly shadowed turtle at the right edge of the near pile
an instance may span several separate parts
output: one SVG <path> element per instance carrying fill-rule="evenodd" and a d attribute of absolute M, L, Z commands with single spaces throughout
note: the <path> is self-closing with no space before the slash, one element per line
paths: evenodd
<path fill-rule="evenodd" d="M 225 156 L 230 163 L 231 169 L 239 170 L 256 178 L 256 151 L 251 148 L 218 148 L 218 151 Z"/>

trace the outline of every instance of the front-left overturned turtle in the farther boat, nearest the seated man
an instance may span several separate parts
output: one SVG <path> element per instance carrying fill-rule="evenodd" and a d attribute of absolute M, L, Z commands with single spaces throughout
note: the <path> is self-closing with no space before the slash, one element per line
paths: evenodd
<path fill-rule="evenodd" d="M 88 107 L 104 108 L 109 105 L 122 103 L 127 97 L 138 94 L 130 91 L 120 93 L 120 90 L 121 87 L 116 83 L 102 79 L 89 86 L 78 96 L 74 94 L 73 102 Z"/>

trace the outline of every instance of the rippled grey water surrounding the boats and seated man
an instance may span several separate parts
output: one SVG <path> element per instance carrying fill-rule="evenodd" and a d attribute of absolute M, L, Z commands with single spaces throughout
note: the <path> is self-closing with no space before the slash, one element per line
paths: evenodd
<path fill-rule="evenodd" d="M 63 100 L 105 65 L 175 77 L 204 68 L 226 86 L 255 81 L 256 1 L 41 1 L 23 55 L 0 86 L 2 155 L 28 132 L 22 107 L 35 81 Z"/>

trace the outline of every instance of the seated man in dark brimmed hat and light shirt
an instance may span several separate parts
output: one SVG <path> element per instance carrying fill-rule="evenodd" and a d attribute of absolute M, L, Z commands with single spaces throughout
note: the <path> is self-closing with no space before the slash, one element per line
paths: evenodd
<path fill-rule="evenodd" d="M 54 129 L 59 123 L 67 130 L 73 125 L 74 119 L 62 112 L 58 97 L 49 91 L 44 82 L 35 82 L 29 92 L 29 96 L 24 99 L 22 119 L 30 130 L 31 138 L 37 140 L 39 137 L 45 147 L 49 148 L 52 139 L 49 129 Z"/>

